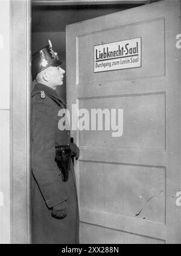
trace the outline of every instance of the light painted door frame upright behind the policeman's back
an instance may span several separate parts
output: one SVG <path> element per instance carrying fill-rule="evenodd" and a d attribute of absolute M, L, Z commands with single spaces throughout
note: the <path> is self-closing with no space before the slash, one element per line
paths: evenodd
<path fill-rule="evenodd" d="M 36 2 L 39 2 L 39 1 L 36 1 Z M 79 4 L 83 4 L 82 1 L 77 1 L 77 4 L 78 2 Z M 87 2 L 89 1 L 86 1 L 86 4 Z M 92 1 L 90 2 L 91 2 L 90 4 L 92 4 Z M 121 2 L 122 1 L 119 1 L 119 3 Z M 128 2 L 130 3 L 133 1 L 128 1 Z M 141 1 L 141 2 L 144 4 L 147 1 Z M 11 54 L 10 55 L 11 56 L 11 59 L 10 59 L 10 205 L 11 205 L 10 206 L 11 208 L 10 209 L 10 212 L 11 212 L 10 213 L 10 216 L 11 216 L 10 217 L 11 219 L 10 220 L 11 221 L 10 222 L 11 223 L 10 241 L 11 243 L 31 243 L 31 215 L 30 215 L 31 4 L 33 4 L 31 0 L 24 0 L 24 1 L 10 0 L 10 54 Z M 69 5 L 71 5 L 71 3 Z M 181 179 L 180 179 L 180 187 L 181 187 Z M 181 210 L 180 210 L 180 217 L 181 217 Z M 180 233 L 181 233 L 181 230 L 180 230 Z"/>

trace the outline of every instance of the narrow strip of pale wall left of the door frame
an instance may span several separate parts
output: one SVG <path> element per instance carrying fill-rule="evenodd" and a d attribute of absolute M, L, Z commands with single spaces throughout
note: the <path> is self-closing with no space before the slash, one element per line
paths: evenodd
<path fill-rule="evenodd" d="M 0 243 L 10 243 L 10 1 L 0 1 Z"/>

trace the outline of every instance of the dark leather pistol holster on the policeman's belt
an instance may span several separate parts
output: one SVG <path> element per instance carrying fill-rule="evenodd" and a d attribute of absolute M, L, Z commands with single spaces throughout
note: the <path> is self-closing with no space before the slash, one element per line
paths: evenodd
<path fill-rule="evenodd" d="M 60 171 L 62 172 L 63 182 L 69 179 L 69 169 L 71 169 L 71 155 L 72 149 L 69 145 L 56 146 L 55 161 Z"/>

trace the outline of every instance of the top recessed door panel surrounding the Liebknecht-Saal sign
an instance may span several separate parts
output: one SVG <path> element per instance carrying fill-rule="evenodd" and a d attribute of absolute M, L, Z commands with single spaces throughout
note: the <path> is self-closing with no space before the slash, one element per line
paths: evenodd
<path fill-rule="evenodd" d="M 78 84 L 108 82 L 136 77 L 164 76 L 165 74 L 165 34 L 164 18 L 152 19 L 112 28 L 110 30 L 95 31 L 78 37 Z M 155 29 L 156 28 L 156 29 Z M 142 39 L 142 68 L 133 68 L 116 72 L 94 74 L 94 54 L 90 54 L 92 45 L 107 44 L 130 38 Z M 86 47 L 84 47 L 86 45 Z M 148 47 L 149 45 L 149 47 Z M 149 48 L 149 50 L 148 50 Z M 151 54 L 150 54 L 151 53 Z"/>

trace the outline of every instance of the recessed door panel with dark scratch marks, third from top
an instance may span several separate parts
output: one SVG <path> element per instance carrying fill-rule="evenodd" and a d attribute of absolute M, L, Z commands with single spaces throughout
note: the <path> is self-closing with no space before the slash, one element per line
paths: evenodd
<path fill-rule="evenodd" d="M 80 176 L 81 208 L 165 223 L 164 168 L 81 162 Z"/>

